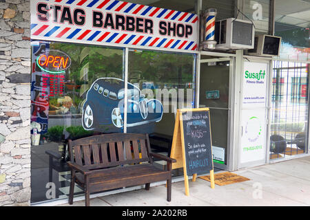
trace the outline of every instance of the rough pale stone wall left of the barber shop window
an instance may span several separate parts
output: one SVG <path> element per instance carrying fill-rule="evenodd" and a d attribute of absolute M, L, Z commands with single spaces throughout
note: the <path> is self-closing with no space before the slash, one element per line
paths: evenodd
<path fill-rule="evenodd" d="M 0 206 L 30 205 L 30 0 L 0 0 Z"/>

